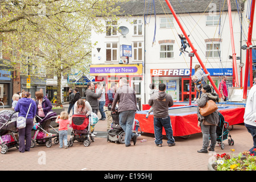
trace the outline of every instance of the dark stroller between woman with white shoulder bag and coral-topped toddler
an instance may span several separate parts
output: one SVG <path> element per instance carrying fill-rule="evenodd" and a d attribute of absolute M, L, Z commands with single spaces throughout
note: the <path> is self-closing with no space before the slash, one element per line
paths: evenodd
<path fill-rule="evenodd" d="M 39 119 L 41 119 L 38 115 L 36 115 Z M 34 123 L 34 127 L 32 131 L 35 131 L 34 137 L 31 139 L 31 148 L 35 147 L 35 144 L 46 144 L 47 147 L 52 146 L 52 138 L 55 138 L 53 142 L 55 144 L 59 143 L 59 133 L 50 125 L 52 121 L 56 121 L 57 114 L 55 112 L 50 111 L 47 113 L 46 117 L 41 119 L 40 122 Z M 56 131 L 56 135 L 49 134 L 47 130 L 51 127 Z"/>

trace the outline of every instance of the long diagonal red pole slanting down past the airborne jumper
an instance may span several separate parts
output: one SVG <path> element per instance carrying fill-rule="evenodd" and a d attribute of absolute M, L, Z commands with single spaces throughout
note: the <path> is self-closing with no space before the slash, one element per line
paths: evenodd
<path fill-rule="evenodd" d="M 166 3 L 167 3 L 168 7 L 170 8 L 170 10 L 171 10 L 171 12 L 172 12 L 172 15 L 174 15 L 174 18 L 175 18 L 177 24 L 179 25 L 181 31 L 183 32 L 183 35 L 184 35 L 185 38 L 187 39 L 187 41 L 188 41 L 190 47 L 192 48 L 193 53 L 195 53 L 196 58 L 197 58 L 197 60 L 199 61 L 201 67 L 203 68 L 205 74 L 208 74 L 208 71 L 207 71 L 207 69 L 205 68 L 203 61 L 200 59 L 199 54 L 197 53 L 197 50 L 196 50 L 195 47 L 193 46 L 191 40 L 189 39 L 189 37 L 188 37 L 187 33 L 185 32 L 183 26 L 181 25 L 179 18 L 177 18 L 177 15 L 176 15 L 174 9 L 172 8 L 171 3 L 170 3 L 168 0 L 166 0 Z M 217 86 L 214 84 L 214 82 L 213 82 L 213 80 L 212 80 L 212 77 L 210 77 L 210 75 L 208 76 L 208 79 L 209 79 L 210 83 L 212 84 L 214 90 L 215 90 L 216 93 L 218 94 L 218 96 L 221 98 L 221 93 L 218 91 L 218 88 L 217 88 Z"/>

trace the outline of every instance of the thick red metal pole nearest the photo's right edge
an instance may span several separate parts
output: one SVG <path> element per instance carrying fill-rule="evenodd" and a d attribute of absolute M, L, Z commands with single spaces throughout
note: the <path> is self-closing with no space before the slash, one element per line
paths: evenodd
<path fill-rule="evenodd" d="M 249 3 L 249 2 L 248 2 Z M 255 10 L 255 0 L 251 2 L 251 19 L 249 24 L 249 30 L 248 30 L 248 38 L 247 38 L 247 47 L 251 46 L 251 37 L 253 36 L 253 20 L 254 20 L 254 10 Z M 250 56 L 252 50 L 250 48 L 246 50 L 246 61 L 245 61 L 245 82 L 243 83 L 243 99 L 246 99 L 247 97 L 247 85 L 248 85 L 248 75 L 249 75 L 249 64 L 251 63 L 251 69 L 252 63 L 253 63 L 253 57 Z M 252 73 L 250 74 L 250 77 L 252 77 Z M 250 83 L 251 84 L 251 83 Z M 252 84 L 250 85 L 252 86 Z"/>

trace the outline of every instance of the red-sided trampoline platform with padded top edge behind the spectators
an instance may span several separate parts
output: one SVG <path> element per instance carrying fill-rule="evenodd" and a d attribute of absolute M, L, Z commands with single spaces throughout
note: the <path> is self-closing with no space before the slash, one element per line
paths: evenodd
<path fill-rule="evenodd" d="M 176 104 L 176 103 L 175 103 Z M 218 111 L 224 116 L 229 126 L 243 123 L 243 114 L 245 107 L 237 106 L 218 106 Z M 141 129 L 144 133 L 154 134 L 154 110 L 146 118 L 148 110 L 138 111 L 135 119 L 138 119 Z M 200 127 L 197 126 L 197 106 L 175 106 L 169 108 L 172 130 L 175 137 L 201 133 Z M 163 135 L 166 132 L 163 129 Z"/>

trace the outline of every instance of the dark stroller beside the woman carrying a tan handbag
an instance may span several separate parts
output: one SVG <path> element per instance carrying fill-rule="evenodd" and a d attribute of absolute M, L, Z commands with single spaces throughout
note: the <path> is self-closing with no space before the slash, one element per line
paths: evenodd
<path fill-rule="evenodd" d="M 219 121 L 216 127 L 216 135 L 217 135 L 216 141 L 220 145 L 221 149 L 223 150 L 225 148 L 225 145 L 223 143 L 224 140 L 230 137 L 230 139 L 228 139 L 228 144 L 232 146 L 234 145 L 234 140 L 231 138 L 231 135 L 229 133 L 229 129 L 228 129 L 229 123 L 225 122 L 225 119 L 220 112 L 218 112 L 218 116 L 219 116 Z"/>

